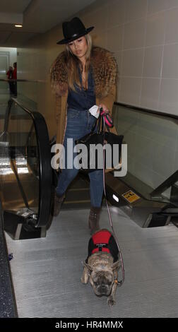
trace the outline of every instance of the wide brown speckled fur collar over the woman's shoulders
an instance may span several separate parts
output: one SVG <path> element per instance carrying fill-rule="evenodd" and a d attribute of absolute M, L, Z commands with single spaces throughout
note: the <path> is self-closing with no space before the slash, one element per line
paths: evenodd
<path fill-rule="evenodd" d="M 93 47 L 91 65 L 95 81 L 96 97 L 105 97 L 117 80 L 117 62 L 111 52 L 101 47 Z M 65 52 L 61 52 L 50 69 L 52 90 L 57 95 L 65 95 L 68 90 L 68 75 Z"/>

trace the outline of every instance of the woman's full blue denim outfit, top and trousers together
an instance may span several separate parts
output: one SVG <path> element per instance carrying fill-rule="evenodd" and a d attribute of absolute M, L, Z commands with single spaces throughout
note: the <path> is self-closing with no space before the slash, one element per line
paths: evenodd
<path fill-rule="evenodd" d="M 79 76 L 81 79 L 80 71 Z M 96 118 L 88 112 L 88 109 L 95 105 L 95 87 L 91 70 L 88 74 L 88 90 L 83 90 L 83 88 L 80 90 L 76 86 L 76 92 L 69 90 L 67 102 L 67 125 L 64 137 L 65 168 L 59 174 L 56 188 L 58 196 L 64 195 L 67 187 L 79 172 L 73 165 L 73 160 L 77 155 L 77 153 L 73 153 L 75 140 L 89 134 L 96 121 Z M 67 146 L 68 138 L 73 138 L 73 144 L 68 144 Z M 67 155 L 70 156 L 68 158 L 68 165 Z M 103 194 L 102 170 L 94 170 L 89 172 L 88 175 L 90 177 L 91 206 L 100 207 Z"/>

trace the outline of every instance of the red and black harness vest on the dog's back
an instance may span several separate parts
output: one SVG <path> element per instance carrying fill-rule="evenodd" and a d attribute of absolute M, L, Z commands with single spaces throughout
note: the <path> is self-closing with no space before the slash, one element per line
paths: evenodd
<path fill-rule="evenodd" d="M 88 263 L 88 258 L 98 251 L 112 254 L 114 262 L 118 261 L 119 250 L 117 243 L 115 242 L 114 237 L 109 232 L 109 230 L 99 230 L 90 238 L 88 243 L 88 257 L 86 259 L 86 263 Z"/>

